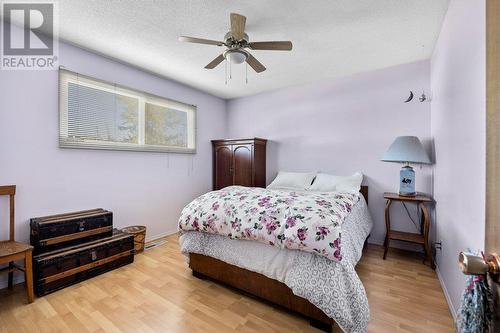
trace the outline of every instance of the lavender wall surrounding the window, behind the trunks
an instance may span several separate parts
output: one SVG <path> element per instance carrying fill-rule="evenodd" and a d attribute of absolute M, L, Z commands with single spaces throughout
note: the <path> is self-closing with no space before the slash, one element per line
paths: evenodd
<path fill-rule="evenodd" d="M 167 61 L 167 59 L 166 59 Z M 61 43 L 70 70 L 198 106 L 195 155 L 60 149 L 57 71 L 0 73 L 0 184 L 18 186 L 16 235 L 34 216 L 103 207 L 148 238 L 176 231 L 182 207 L 211 189 L 210 139 L 225 136 L 225 101 Z M 6 235 L 0 201 L 0 239 Z"/>

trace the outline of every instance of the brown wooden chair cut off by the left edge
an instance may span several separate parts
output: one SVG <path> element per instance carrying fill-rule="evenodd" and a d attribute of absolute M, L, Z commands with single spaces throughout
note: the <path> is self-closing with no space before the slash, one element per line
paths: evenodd
<path fill-rule="evenodd" d="M 0 269 L 0 273 L 9 274 L 9 289 L 12 289 L 14 272 L 17 270 L 24 271 L 26 279 L 26 289 L 28 292 L 28 302 L 33 302 L 33 269 L 32 269 L 32 252 L 33 247 L 28 244 L 19 243 L 14 240 L 14 195 L 16 194 L 16 186 L 0 186 L 0 195 L 8 195 L 10 203 L 10 238 L 9 240 L 0 241 L 0 265 L 8 264 L 7 267 Z M 15 261 L 24 260 L 24 267 L 19 267 Z"/>

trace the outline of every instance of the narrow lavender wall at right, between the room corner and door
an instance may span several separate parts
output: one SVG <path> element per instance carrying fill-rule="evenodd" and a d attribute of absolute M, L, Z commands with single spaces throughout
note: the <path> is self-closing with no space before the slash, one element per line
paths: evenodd
<path fill-rule="evenodd" d="M 484 249 L 485 17 L 484 0 L 452 0 L 431 61 L 437 263 L 454 315 L 465 280 L 458 253 Z"/>

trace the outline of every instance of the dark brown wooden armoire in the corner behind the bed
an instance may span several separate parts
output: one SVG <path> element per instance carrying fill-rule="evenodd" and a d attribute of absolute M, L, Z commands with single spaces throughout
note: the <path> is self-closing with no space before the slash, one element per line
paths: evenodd
<path fill-rule="evenodd" d="M 231 185 L 265 187 L 266 143 L 259 138 L 212 140 L 214 190 Z"/>

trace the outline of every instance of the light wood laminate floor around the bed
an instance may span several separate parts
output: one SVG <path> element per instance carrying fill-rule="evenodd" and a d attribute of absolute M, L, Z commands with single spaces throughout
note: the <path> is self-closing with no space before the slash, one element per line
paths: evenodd
<path fill-rule="evenodd" d="M 0 332 L 319 332 L 306 319 L 192 277 L 176 236 L 134 264 L 27 305 L 24 286 L 0 291 Z M 434 271 L 418 256 L 370 245 L 357 271 L 370 332 L 453 332 Z M 337 330 L 335 330 L 337 332 Z"/>

